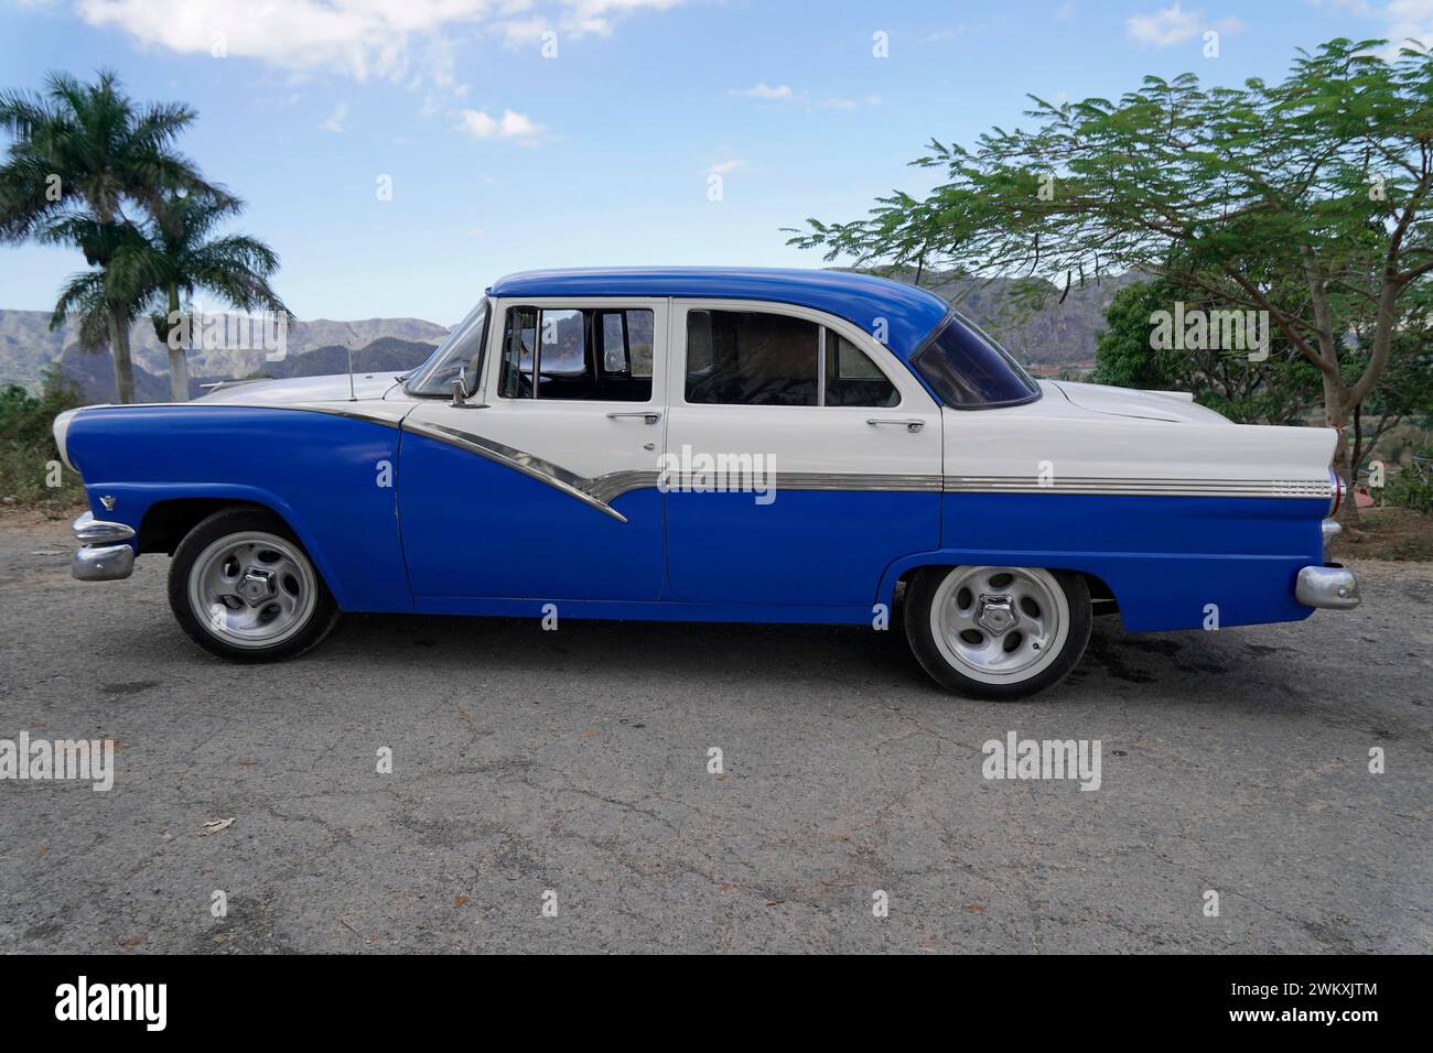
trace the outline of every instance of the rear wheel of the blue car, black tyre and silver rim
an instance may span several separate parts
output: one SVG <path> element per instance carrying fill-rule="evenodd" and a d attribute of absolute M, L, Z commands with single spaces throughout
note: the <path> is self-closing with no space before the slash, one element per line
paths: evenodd
<path fill-rule="evenodd" d="M 1069 570 L 926 567 L 906 636 L 927 673 L 973 698 L 1025 698 L 1065 679 L 1089 642 L 1089 587 Z"/>

